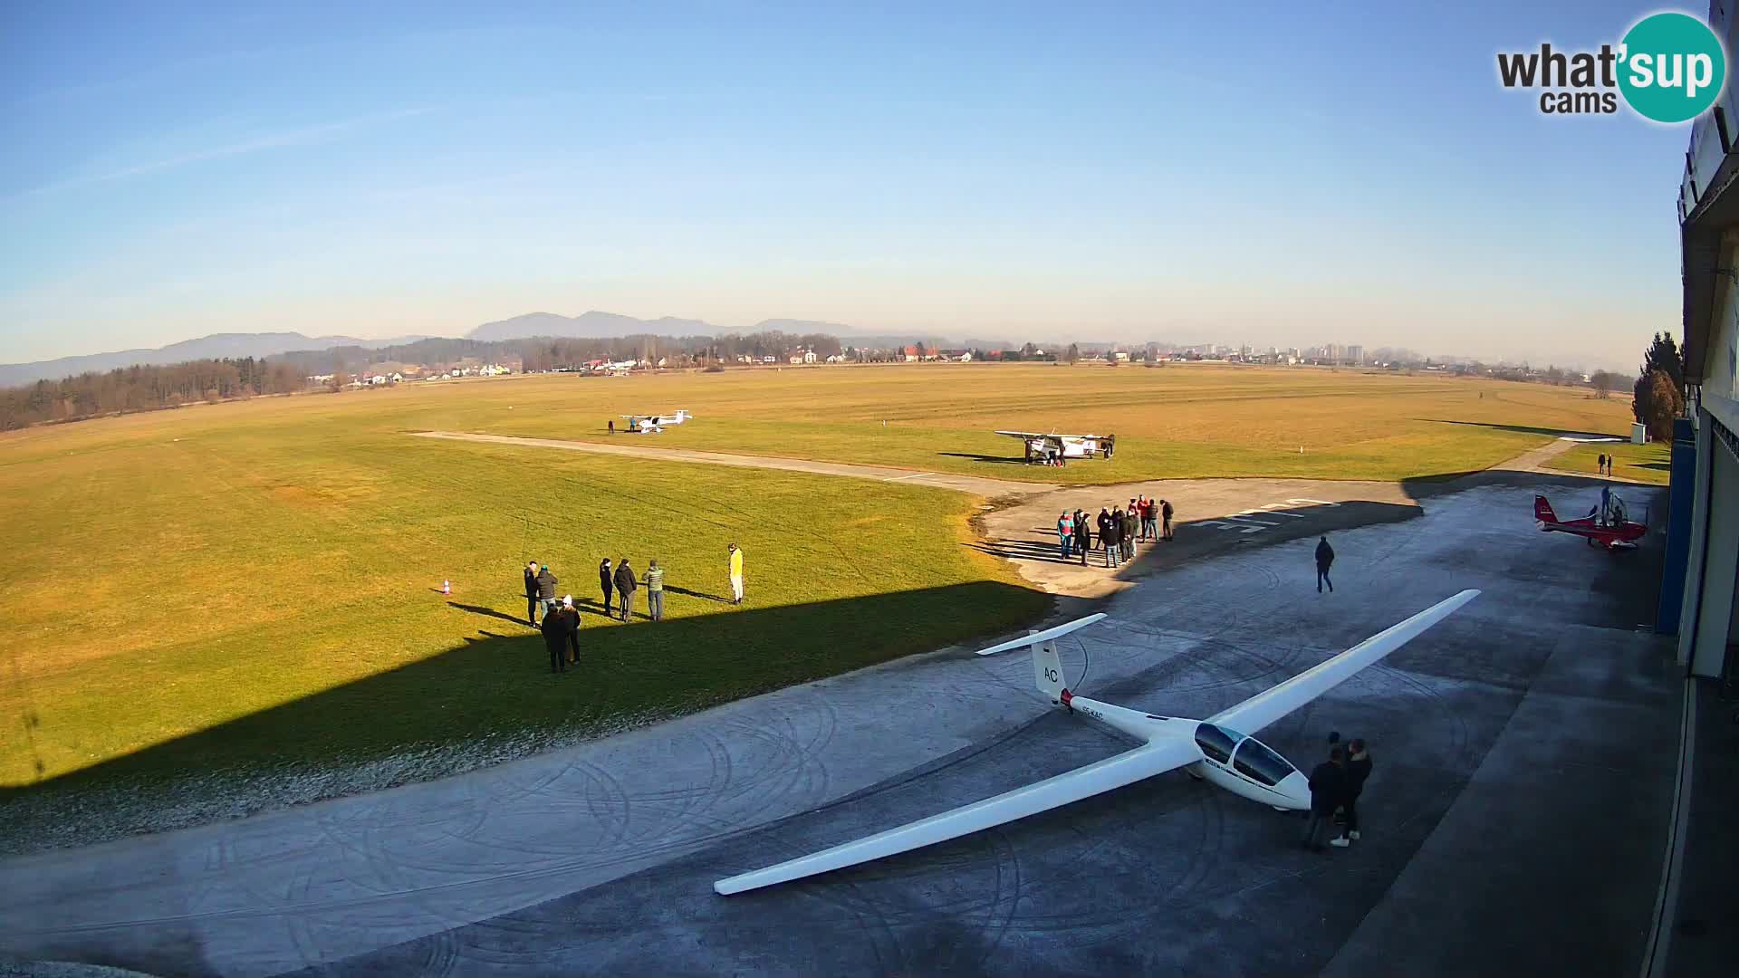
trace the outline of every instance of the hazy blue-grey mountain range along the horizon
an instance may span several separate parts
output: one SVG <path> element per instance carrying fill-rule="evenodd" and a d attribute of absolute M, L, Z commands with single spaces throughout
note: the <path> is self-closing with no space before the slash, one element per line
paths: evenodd
<path fill-rule="evenodd" d="M 729 329 L 699 318 L 636 318 L 631 315 L 584 311 L 574 317 L 558 313 L 525 313 L 497 322 L 485 322 L 464 334 L 466 339 L 501 341 L 530 339 L 534 336 L 565 336 L 576 339 L 605 339 L 612 336 L 720 336 L 725 332 L 786 332 L 807 334 L 823 332 L 838 336 L 845 345 L 857 346 L 903 346 L 908 343 L 941 343 L 943 346 L 965 346 L 983 350 L 1010 350 L 1016 345 L 996 339 L 955 341 L 948 336 L 925 332 L 887 332 L 868 331 L 840 322 L 821 322 L 807 318 L 769 318 L 746 331 Z M 356 339 L 353 336 L 304 336 L 301 332 L 214 332 L 198 339 L 184 339 L 158 346 L 155 350 L 118 350 L 115 353 L 90 353 L 83 357 L 61 357 L 57 360 L 37 360 L 31 364 L 0 364 L 0 386 L 17 386 L 38 379 L 61 379 L 90 371 L 113 371 L 144 364 L 181 364 L 186 360 L 207 360 L 223 357 L 277 357 L 280 353 L 303 350 L 332 350 L 336 346 L 362 346 L 379 350 L 430 339 L 430 336 L 395 336 L 391 339 Z"/>

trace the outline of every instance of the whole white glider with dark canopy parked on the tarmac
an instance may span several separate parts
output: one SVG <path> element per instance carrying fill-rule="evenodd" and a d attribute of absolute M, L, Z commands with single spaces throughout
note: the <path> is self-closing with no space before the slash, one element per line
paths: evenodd
<path fill-rule="evenodd" d="M 1057 774 L 1056 778 L 1047 778 L 981 802 L 932 814 L 899 828 L 889 828 L 887 832 L 809 856 L 798 856 L 774 867 L 722 879 L 713 884 L 713 889 L 729 896 L 776 882 L 790 882 L 830 870 L 856 867 L 897 853 L 909 853 L 911 849 L 922 849 L 923 846 L 934 846 L 972 832 L 1005 825 L 1017 818 L 1050 811 L 1181 767 L 1236 795 L 1282 811 L 1309 809 L 1309 780 L 1287 762 L 1285 757 L 1280 757 L 1249 734 L 1334 689 L 1358 670 L 1379 661 L 1426 628 L 1449 618 L 1450 613 L 1478 595 L 1480 592 L 1476 590 L 1464 590 L 1443 599 L 1407 621 L 1386 628 L 1351 649 L 1294 675 L 1280 686 L 1257 693 L 1236 707 L 1221 710 L 1207 720 L 1158 717 L 1069 693 L 1063 682 L 1063 660 L 1057 658 L 1057 639 L 1103 620 L 1104 614 L 1089 614 L 1068 625 L 993 646 L 979 654 L 989 656 L 1021 646 L 1029 647 L 1033 651 L 1033 677 L 1038 682 L 1040 693 L 1071 712 L 1087 713 L 1146 743 L 1096 764 L 1076 767 L 1066 774 Z"/>

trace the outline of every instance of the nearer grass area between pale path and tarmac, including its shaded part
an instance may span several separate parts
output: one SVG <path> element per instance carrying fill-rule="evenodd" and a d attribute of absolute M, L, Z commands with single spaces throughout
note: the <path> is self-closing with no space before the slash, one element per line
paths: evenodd
<path fill-rule="evenodd" d="M 390 404 L 263 399 L 0 442 L 0 783 L 367 759 L 692 710 L 1045 606 L 960 546 L 960 494 L 428 442 Z M 588 614 L 595 675 L 546 675 L 518 621 L 525 559 L 579 599 L 624 553 L 723 595 L 732 539 L 743 607 L 671 593 L 656 626 Z M 223 724 L 197 750 L 162 747 Z"/>

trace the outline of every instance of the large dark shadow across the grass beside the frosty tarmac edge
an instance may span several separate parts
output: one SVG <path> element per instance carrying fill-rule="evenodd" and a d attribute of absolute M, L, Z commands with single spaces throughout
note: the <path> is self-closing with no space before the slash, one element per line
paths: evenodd
<path fill-rule="evenodd" d="M 299 781 L 303 794 L 290 800 L 306 802 L 440 778 L 1002 633 L 1050 607 L 1036 590 L 996 581 L 777 607 L 756 607 L 751 595 L 730 611 L 718 609 L 713 595 L 666 593 L 666 618 L 657 625 L 603 625 L 586 616 L 581 661 L 565 673 L 550 672 L 543 637 L 513 614 L 443 602 L 463 613 L 450 620 L 457 644 L 443 653 L 30 787 L 0 788 L 0 839 L 7 841 L 0 851 L 155 830 L 163 827 L 158 813 L 170 806 L 172 827 L 282 807 L 287 795 L 273 785 Z M 516 609 L 522 600 L 504 595 L 499 604 Z M 476 614 L 522 632 L 461 635 Z M 47 710 L 38 740 L 56 736 L 56 727 Z M 73 720 L 59 736 L 78 736 Z M 372 773 L 363 771 L 370 764 Z M 104 804 L 127 813 L 77 832 L 63 825 L 68 811 Z"/>

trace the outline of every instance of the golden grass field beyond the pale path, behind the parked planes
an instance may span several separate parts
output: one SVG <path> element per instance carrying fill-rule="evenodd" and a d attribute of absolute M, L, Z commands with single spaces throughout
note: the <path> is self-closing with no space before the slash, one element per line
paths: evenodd
<path fill-rule="evenodd" d="M 407 425 L 600 440 L 617 414 L 685 407 L 697 423 L 616 437 L 1038 482 L 1421 479 L 1489 468 L 1544 444 L 1549 430 L 1629 432 L 1624 404 L 1582 390 L 1322 369 L 913 364 L 556 374 L 468 395 L 463 412 L 428 407 L 423 399 L 433 393 L 402 407 Z M 1019 442 L 996 428 L 1111 432 L 1118 452 L 1109 463 L 1024 466 Z"/>

